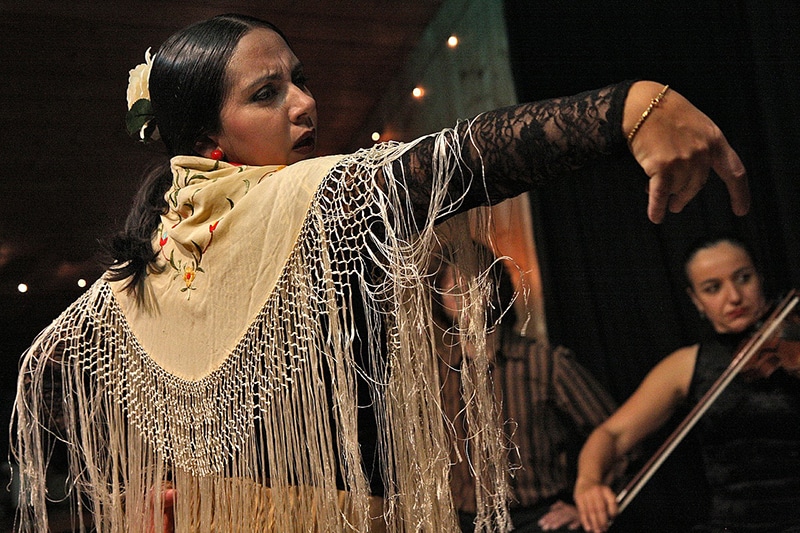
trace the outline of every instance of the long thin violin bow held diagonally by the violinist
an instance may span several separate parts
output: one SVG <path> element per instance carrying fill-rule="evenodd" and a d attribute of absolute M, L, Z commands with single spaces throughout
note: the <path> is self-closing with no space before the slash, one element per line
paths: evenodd
<path fill-rule="evenodd" d="M 791 290 L 783 298 L 781 303 L 770 314 L 769 318 L 762 324 L 758 331 L 739 349 L 728 368 L 717 378 L 711 388 L 700 398 L 697 405 L 689 411 L 686 418 L 681 421 L 675 430 L 670 434 L 664 444 L 662 444 L 653 456 L 645 463 L 641 470 L 628 482 L 624 489 L 617 494 L 617 505 L 619 512 L 625 510 L 628 504 L 639 494 L 642 487 L 650 481 L 656 470 L 669 457 L 672 451 L 683 440 L 687 433 L 694 427 L 701 416 L 714 403 L 717 397 L 728 386 L 734 377 L 742 370 L 748 361 L 757 354 L 764 343 L 775 333 L 775 330 L 783 320 L 792 312 L 797 305 L 800 296 L 796 290 Z"/>

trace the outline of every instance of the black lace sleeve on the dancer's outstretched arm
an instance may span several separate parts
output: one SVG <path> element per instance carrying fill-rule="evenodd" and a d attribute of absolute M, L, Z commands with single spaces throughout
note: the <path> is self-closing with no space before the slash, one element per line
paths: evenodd
<path fill-rule="evenodd" d="M 462 147 L 462 174 L 484 180 L 454 179 L 449 188 L 459 205 L 448 215 L 494 204 L 535 188 L 625 145 L 622 112 L 632 81 L 575 96 L 497 109 L 459 123 L 450 132 Z M 414 217 L 429 207 L 436 137 L 423 139 L 401 164 Z M 444 217 L 442 217 L 444 218 Z"/>

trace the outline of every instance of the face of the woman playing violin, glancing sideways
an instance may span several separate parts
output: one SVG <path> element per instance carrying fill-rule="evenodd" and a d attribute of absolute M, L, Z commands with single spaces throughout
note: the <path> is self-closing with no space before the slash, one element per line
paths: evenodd
<path fill-rule="evenodd" d="M 766 310 L 761 277 L 739 246 L 722 241 L 699 250 L 686 272 L 689 296 L 717 333 L 744 331 Z"/>

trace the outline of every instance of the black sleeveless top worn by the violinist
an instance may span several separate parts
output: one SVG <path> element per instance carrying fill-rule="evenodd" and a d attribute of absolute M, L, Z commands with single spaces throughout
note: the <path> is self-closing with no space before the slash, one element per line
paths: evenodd
<path fill-rule="evenodd" d="M 700 344 L 689 390 L 697 402 L 731 361 L 743 335 Z M 698 421 L 711 488 L 707 531 L 800 531 L 800 379 L 782 369 L 737 376 Z"/>

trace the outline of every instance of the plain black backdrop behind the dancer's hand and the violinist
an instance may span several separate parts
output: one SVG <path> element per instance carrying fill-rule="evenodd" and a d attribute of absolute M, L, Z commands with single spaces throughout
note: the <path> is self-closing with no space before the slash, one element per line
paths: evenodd
<path fill-rule="evenodd" d="M 537 191 L 550 336 L 624 401 L 655 363 L 697 339 L 680 269 L 697 237 L 737 231 L 774 293 L 800 287 L 800 8 L 772 0 L 507 0 L 506 15 L 520 100 L 623 79 L 669 83 L 722 128 L 748 169 L 753 205 L 742 218 L 714 179 L 683 213 L 651 224 L 646 179 L 630 160 Z M 704 498 L 691 445 L 661 467 L 617 530 L 689 527 Z"/>

